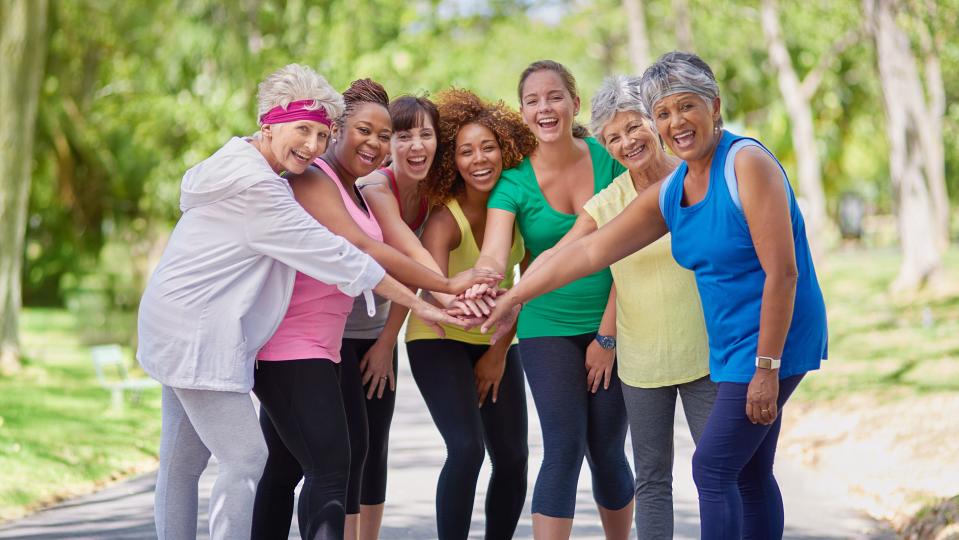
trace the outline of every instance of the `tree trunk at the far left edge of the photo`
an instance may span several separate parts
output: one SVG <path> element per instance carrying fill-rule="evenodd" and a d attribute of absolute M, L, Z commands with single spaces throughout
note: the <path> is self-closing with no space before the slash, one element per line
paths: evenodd
<path fill-rule="evenodd" d="M 0 373 L 20 366 L 20 270 L 46 24 L 46 0 L 0 7 Z"/>

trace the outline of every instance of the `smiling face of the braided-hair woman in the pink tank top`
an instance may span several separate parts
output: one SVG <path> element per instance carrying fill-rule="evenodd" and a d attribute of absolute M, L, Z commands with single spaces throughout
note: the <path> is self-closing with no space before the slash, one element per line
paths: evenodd
<path fill-rule="evenodd" d="M 336 133 L 334 152 L 340 166 L 356 178 L 376 170 L 390 151 L 393 123 L 378 103 L 357 105 Z"/>

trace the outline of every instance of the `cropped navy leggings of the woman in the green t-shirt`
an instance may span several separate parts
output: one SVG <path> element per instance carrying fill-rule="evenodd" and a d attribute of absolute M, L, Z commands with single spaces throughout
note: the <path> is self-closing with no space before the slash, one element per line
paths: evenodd
<path fill-rule="evenodd" d="M 593 475 L 593 498 L 619 510 L 633 500 L 626 460 L 626 405 L 613 364 L 609 388 L 586 389 L 586 347 L 595 333 L 519 341 L 526 380 L 543 430 L 543 466 L 533 489 L 534 514 L 572 518 L 583 457 Z"/>

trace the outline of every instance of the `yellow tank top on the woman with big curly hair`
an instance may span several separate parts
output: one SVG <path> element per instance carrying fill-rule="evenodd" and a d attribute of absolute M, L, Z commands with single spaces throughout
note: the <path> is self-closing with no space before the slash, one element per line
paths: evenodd
<path fill-rule="evenodd" d="M 476 245 L 476 239 L 473 237 L 473 229 L 470 227 L 469 220 L 466 219 L 466 214 L 463 213 L 463 209 L 460 208 L 459 201 L 450 199 L 449 202 L 446 203 L 446 208 L 449 209 L 450 214 L 453 215 L 453 219 L 456 220 L 456 225 L 460 229 L 460 245 L 450 251 L 449 258 L 449 275 L 455 276 L 463 270 L 472 268 L 473 265 L 476 264 L 476 260 L 479 259 L 480 248 Z M 506 261 L 506 277 L 500 282 L 500 287 L 508 289 L 513 286 L 513 281 L 516 278 L 516 265 L 523 260 L 525 254 L 526 246 L 523 244 L 523 237 L 520 236 L 519 230 L 514 227 L 513 247 L 510 248 L 509 258 Z M 489 345 L 490 336 L 492 335 L 492 331 L 484 334 L 480 332 L 479 328 L 466 331 L 455 326 L 445 324 L 442 326 L 443 330 L 446 331 L 446 339 L 462 341 L 463 343 L 473 345 Z M 439 339 L 439 336 L 430 330 L 430 328 L 426 326 L 426 323 L 420 320 L 419 317 L 411 315 L 409 321 L 406 323 L 406 341 L 415 341 L 417 339 Z"/>

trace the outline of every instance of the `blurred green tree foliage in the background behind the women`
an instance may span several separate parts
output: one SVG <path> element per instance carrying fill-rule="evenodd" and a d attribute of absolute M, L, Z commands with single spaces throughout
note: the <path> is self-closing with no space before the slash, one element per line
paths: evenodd
<path fill-rule="evenodd" d="M 653 54 L 674 49 L 672 0 L 644 3 Z M 720 81 L 727 124 L 760 136 L 795 170 L 758 3 L 689 4 L 695 50 Z M 931 26 L 946 35 L 959 0 L 937 4 Z M 853 0 L 780 5 L 800 77 L 861 24 Z M 455 85 L 512 105 L 522 69 L 553 58 L 577 76 L 585 122 L 602 78 L 631 71 L 623 13 L 618 0 L 59 0 L 50 10 L 33 156 L 25 304 L 132 310 L 178 217 L 183 172 L 230 136 L 255 130 L 256 85 L 284 64 L 314 66 L 339 89 L 372 77 L 391 95 Z M 955 200 L 959 42 L 940 43 L 951 104 L 946 173 Z M 889 212 L 871 40 L 862 35 L 830 60 L 812 100 L 830 206 L 834 212 L 838 195 L 853 190 Z"/>

